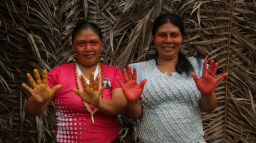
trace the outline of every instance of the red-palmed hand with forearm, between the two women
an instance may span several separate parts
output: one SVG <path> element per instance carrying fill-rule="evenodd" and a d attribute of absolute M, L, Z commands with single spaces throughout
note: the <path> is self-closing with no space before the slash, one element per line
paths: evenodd
<path fill-rule="evenodd" d="M 138 85 L 136 68 L 133 68 L 132 74 L 131 66 L 129 65 L 127 66 L 127 71 L 126 69 L 123 70 L 125 84 L 119 79 L 119 77 L 117 77 L 117 80 L 120 83 L 127 99 L 126 113 L 131 119 L 137 120 L 142 116 L 143 111 L 140 103 L 140 96 L 147 80 L 143 79 L 140 82 L 140 85 Z"/>

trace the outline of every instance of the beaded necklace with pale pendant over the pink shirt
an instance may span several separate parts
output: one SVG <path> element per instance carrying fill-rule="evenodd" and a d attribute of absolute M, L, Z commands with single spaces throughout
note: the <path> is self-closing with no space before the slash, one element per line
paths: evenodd
<path fill-rule="evenodd" d="M 98 62 L 98 68 L 99 68 L 99 75 L 100 75 L 100 81 L 99 81 L 99 90 L 102 88 L 102 69 L 101 69 L 101 65 L 100 65 L 100 62 Z M 77 87 L 77 89 L 79 90 L 79 91 L 81 91 L 81 92 L 83 92 L 83 88 L 82 88 L 82 86 L 81 86 L 81 82 L 80 82 L 80 79 L 79 79 L 79 75 L 78 75 L 78 72 L 77 72 L 77 61 L 76 62 L 74 62 L 74 69 L 75 69 L 75 79 L 76 79 L 76 87 Z M 100 98 L 102 98 L 103 97 L 103 92 L 101 93 L 101 95 L 100 95 Z M 97 109 L 97 108 L 95 108 L 93 111 L 91 110 L 91 108 L 90 108 L 90 106 L 87 104 L 87 103 L 85 103 L 84 101 L 83 101 L 83 99 L 81 99 L 82 100 L 82 103 L 84 104 L 84 107 L 86 108 L 86 111 L 88 111 L 90 114 L 91 114 L 91 118 L 92 118 L 92 122 L 93 122 L 93 124 L 94 124 L 94 118 L 93 118 L 93 114 L 96 114 L 96 112 L 98 112 L 99 110 Z"/>

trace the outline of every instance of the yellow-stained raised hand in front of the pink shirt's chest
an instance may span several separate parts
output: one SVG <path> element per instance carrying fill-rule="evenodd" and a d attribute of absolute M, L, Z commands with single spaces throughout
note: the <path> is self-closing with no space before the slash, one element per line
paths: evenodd
<path fill-rule="evenodd" d="M 81 74 L 81 80 L 83 83 L 84 91 L 81 92 L 75 88 L 73 89 L 73 91 L 81 99 L 83 99 L 84 102 L 91 104 L 94 107 L 97 106 L 99 104 L 100 95 L 103 92 L 103 90 L 106 88 L 106 85 L 102 86 L 102 88 L 99 91 L 97 91 L 98 86 L 99 86 L 100 77 L 98 76 L 94 83 L 94 72 L 91 73 L 89 87 L 88 87 L 88 85 L 84 79 L 84 76 L 82 74 Z"/>

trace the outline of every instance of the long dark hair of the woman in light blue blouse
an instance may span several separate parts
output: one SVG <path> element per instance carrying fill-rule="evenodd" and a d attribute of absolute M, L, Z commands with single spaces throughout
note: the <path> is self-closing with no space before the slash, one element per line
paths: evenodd
<path fill-rule="evenodd" d="M 162 14 L 160 16 L 158 16 L 154 23 L 153 23 L 153 28 L 152 28 L 152 35 L 153 37 L 156 35 L 156 31 L 157 29 L 162 26 L 162 24 L 165 23 L 172 23 L 175 26 L 179 27 L 181 35 L 183 36 L 185 33 L 185 28 L 184 28 L 184 24 L 180 18 L 179 15 L 177 14 L 173 14 L 173 13 L 166 13 L 166 14 Z M 158 57 L 158 52 L 156 49 L 156 53 L 155 53 L 155 61 L 156 64 L 157 63 L 157 57 Z M 199 59 L 198 59 L 199 61 Z M 187 77 L 190 75 L 190 72 L 194 71 L 194 68 L 192 66 L 192 64 L 188 61 L 188 59 L 186 58 L 185 55 L 183 55 L 180 51 L 178 53 L 178 62 L 175 66 L 175 70 L 179 73 L 182 74 L 182 72 L 185 72 L 187 74 Z"/>

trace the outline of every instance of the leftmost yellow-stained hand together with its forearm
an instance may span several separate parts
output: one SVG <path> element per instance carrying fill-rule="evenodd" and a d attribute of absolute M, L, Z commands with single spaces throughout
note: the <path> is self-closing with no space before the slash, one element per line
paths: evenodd
<path fill-rule="evenodd" d="M 27 78 L 33 89 L 31 89 L 25 83 L 22 83 L 21 85 L 31 94 L 31 97 L 28 98 L 25 105 L 25 113 L 28 116 L 38 116 L 42 114 L 45 108 L 52 102 L 54 98 L 53 94 L 61 87 L 61 85 L 56 85 L 51 89 L 48 86 L 46 70 L 43 71 L 43 83 L 41 82 L 41 77 L 36 69 L 34 70 L 34 74 L 36 82 L 29 73 L 27 74 Z"/>

